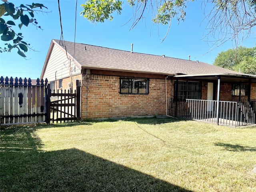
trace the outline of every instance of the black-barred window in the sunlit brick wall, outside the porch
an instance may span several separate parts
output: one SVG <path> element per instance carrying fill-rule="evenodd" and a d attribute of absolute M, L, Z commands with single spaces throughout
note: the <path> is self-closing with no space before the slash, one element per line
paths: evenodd
<path fill-rule="evenodd" d="M 120 94 L 149 94 L 149 79 L 120 78 Z"/>

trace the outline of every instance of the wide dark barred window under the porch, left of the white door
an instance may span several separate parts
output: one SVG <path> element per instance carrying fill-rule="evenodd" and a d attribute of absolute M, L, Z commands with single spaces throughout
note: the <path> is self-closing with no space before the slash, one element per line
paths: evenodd
<path fill-rule="evenodd" d="M 178 101 L 186 99 L 201 99 L 202 86 L 200 82 L 179 81 Z M 174 98 L 176 98 L 176 82 L 174 83 Z"/>

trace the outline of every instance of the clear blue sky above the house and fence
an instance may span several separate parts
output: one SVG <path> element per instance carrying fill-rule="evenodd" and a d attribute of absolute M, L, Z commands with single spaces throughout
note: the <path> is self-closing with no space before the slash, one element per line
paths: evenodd
<path fill-rule="evenodd" d="M 31 44 L 36 50 L 26 52 L 27 58 L 24 59 L 17 54 L 17 50 L 10 53 L 0 54 L 0 76 L 12 76 L 21 78 L 40 78 L 44 61 L 52 39 L 60 39 L 60 16 L 58 12 L 57 0 L 8 0 L 15 6 L 23 4 L 43 3 L 48 8 L 49 13 L 35 14 L 35 18 L 43 29 L 36 29 L 34 26 L 23 26 L 22 30 L 16 28 L 16 32 L 22 32 L 24 40 Z M 122 14 L 114 19 L 104 23 L 91 24 L 80 16 L 83 0 L 78 0 L 77 13 L 75 0 L 60 0 L 60 9 L 62 16 L 62 28 L 64 40 L 78 43 L 120 49 L 131 50 L 131 43 L 134 44 L 133 51 L 162 55 L 168 57 L 199 60 L 212 64 L 217 54 L 232 48 L 232 41 L 210 51 L 213 47 L 211 42 L 204 40 L 206 33 L 206 20 L 204 12 L 210 10 L 201 6 L 202 1 L 191 2 L 186 9 L 186 20 L 178 24 L 172 20 L 171 28 L 166 39 L 162 42 L 168 26 L 152 25 L 151 14 L 148 14 L 146 20 L 139 22 L 136 28 L 130 30 L 132 22 L 132 8 L 125 6 Z M 124 5 L 126 2 L 124 3 Z M 76 36 L 75 36 L 75 14 L 76 18 Z M 4 18 L 4 17 L 3 17 Z M 7 21 L 7 18 L 4 18 Z M 127 23 L 128 22 L 128 23 Z M 15 28 L 14 28 L 15 29 Z M 252 34 L 242 46 L 254 47 L 256 34 Z M 211 40 L 214 40 L 213 38 Z M 0 41 L 3 47 L 5 42 Z M 210 51 L 210 52 L 209 52 Z"/>

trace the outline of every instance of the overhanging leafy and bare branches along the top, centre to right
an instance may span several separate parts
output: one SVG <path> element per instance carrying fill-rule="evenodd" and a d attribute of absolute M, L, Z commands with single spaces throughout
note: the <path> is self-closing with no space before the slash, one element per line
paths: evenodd
<path fill-rule="evenodd" d="M 194 0 L 127 0 L 133 8 L 134 28 L 148 13 L 152 13 L 152 22 L 155 24 L 169 25 L 172 18 L 178 22 L 186 18 L 188 2 Z M 216 39 L 216 46 L 223 44 L 229 39 L 238 43 L 245 40 L 251 29 L 256 26 L 256 0 L 203 0 L 202 6 L 213 6 L 211 12 L 205 13 L 208 26 L 206 26 L 205 38 Z M 120 0 L 86 0 L 82 4 L 84 9 L 81 13 L 90 22 L 104 22 L 110 18 L 113 12 L 118 14 L 122 11 L 123 2 Z M 169 30 L 168 28 L 168 30 Z M 168 33 L 168 31 L 167 31 Z M 241 37 L 242 35 L 242 37 Z"/>

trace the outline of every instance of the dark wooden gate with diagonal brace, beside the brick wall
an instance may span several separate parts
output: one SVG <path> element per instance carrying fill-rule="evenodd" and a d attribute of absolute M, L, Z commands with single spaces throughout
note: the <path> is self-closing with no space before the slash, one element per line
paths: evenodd
<path fill-rule="evenodd" d="M 62 123 L 80 120 L 80 89 L 77 82 L 74 93 L 58 90 L 51 93 L 50 84 L 47 86 L 47 118 L 46 122 Z"/>

